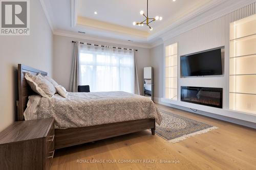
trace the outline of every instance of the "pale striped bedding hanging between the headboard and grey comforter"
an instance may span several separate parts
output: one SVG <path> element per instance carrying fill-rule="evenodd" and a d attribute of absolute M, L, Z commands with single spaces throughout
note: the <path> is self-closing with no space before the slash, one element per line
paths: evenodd
<path fill-rule="evenodd" d="M 39 109 L 39 104 L 40 104 L 41 98 L 42 97 L 40 95 L 30 95 L 29 96 L 27 108 L 24 111 L 25 120 L 37 119 L 36 112 Z"/>

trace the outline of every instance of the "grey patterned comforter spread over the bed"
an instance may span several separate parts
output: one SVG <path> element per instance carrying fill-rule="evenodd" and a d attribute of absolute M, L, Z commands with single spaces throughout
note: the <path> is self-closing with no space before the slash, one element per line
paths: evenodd
<path fill-rule="evenodd" d="M 55 118 L 55 128 L 76 128 L 127 120 L 162 117 L 151 99 L 122 91 L 69 92 L 67 98 L 55 94 L 52 99 L 41 98 L 37 118 Z"/>

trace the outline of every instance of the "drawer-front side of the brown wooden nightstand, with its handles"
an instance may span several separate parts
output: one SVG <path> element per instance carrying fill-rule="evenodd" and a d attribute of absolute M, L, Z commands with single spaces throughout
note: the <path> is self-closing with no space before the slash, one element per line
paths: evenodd
<path fill-rule="evenodd" d="M 54 156 L 54 124 L 52 124 L 46 136 L 46 169 L 50 169 Z"/>

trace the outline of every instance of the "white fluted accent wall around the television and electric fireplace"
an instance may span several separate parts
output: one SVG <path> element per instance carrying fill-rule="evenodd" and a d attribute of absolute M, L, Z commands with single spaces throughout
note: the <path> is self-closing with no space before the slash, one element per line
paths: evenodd
<path fill-rule="evenodd" d="M 157 61 L 161 61 L 159 66 L 155 66 L 156 72 L 163 72 L 164 69 L 164 46 L 175 42 L 178 42 L 178 57 L 190 53 L 200 52 L 210 48 L 225 46 L 225 58 L 224 58 L 224 75 L 223 76 L 209 76 L 209 77 L 192 77 L 192 78 L 180 78 L 178 76 L 178 102 L 170 102 L 179 106 L 185 106 L 188 108 L 196 108 L 198 110 L 204 110 L 220 115 L 230 116 L 233 118 L 244 119 L 246 121 L 256 122 L 256 116 L 251 114 L 240 114 L 239 112 L 229 111 L 229 23 L 239 20 L 249 15 L 256 13 L 256 3 L 252 3 L 248 6 L 230 12 L 226 15 L 218 17 L 214 20 L 209 20 L 203 25 L 200 25 L 194 29 L 180 33 L 170 39 L 163 42 L 161 45 L 151 49 L 152 64 Z M 183 24 L 183 28 L 188 27 L 186 23 Z M 171 34 L 171 33 L 169 33 Z M 168 37 L 168 35 L 166 35 Z M 162 48 L 162 52 L 160 51 Z M 179 60 L 178 60 L 179 62 Z M 178 63 L 179 65 L 179 63 Z M 178 74 L 180 75 L 180 67 L 178 68 Z M 160 74 L 158 74 L 160 75 Z M 155 76 L 155 97 L 163 98 L 163 74 L 161 78 Z M 190 104 L 180 101 L 180 86 L 199 86 L 199 87 L 220 87 L 223 88 L 223 109 L 211 109 L 211 107 L 204 107 L 201 105 Z M 157 92 L 158 91 L 158 92 Z M 156 100 L 157 101 L 157 100 Z"/>

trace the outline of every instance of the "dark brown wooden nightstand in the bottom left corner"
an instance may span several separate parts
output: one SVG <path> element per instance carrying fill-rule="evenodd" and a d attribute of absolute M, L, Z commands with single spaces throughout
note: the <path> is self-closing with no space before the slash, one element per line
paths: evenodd
<path fill-rule="evenodd" d="M 54 118 L 14 122 L 0 132 L 0 169 L 50 169 Z"/>

